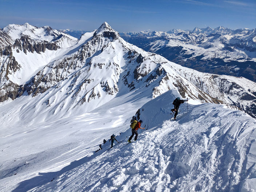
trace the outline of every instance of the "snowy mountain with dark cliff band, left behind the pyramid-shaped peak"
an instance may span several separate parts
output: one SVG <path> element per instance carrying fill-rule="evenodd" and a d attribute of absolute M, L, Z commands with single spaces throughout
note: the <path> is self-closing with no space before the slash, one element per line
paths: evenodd
<path fill-rule="evenodd" d="M 28 23 L 8 25 L 1 32 L 9 43 L 0 41 L 0 101 L 15 99 L 20 85 L 49 62 L 81 47 L 90 34 L 77 40 L 49 26 L 38 28 Z"/>

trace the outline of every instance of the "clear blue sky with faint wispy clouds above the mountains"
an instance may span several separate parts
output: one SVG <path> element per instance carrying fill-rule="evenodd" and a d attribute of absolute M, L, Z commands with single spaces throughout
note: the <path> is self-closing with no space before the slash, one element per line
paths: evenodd
<path fill-rule="evenodd" d="M 224 26 L 256 28 L 256 0 L 0 0 L 0 27 L 92 31 L 107 21 L 119 32 Z"/>

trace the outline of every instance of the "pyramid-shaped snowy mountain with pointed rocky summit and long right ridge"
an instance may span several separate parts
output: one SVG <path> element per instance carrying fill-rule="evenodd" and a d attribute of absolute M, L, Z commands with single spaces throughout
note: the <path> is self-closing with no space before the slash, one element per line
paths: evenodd
<path fill-rule="evenodd" d="M 141 91 L 147 89 L 152 90 L 149 95 L 157 97 L 174 88 L 183 97 L 236 105 L 255 116 L 253 94 L 256 93 L 256 86 L 249 80 L 214 76 L 181 67 L 125 42 L 107 23 L 84 36 L 86 38 L 83 41 L 86 43 L 80 49 L 48 63 L 26 84 L 13 86 L 14 77 L 10 80 L 11 75 L 3 75 L 9 80 L 7 83 L 2 81 L 3 91 L 5 89 L 5 92 L 2 91 L 2 100 L 8 98 L 10 89 L 11 99 L 15 99 L 15 94 L 16 97 L 24 93 L 36 96 L 47 91 L 43 97 L 39 97 L 44 100 L 47 110 L 51 109 L 49 111 L 53 114 L 58 114 L 60 110 L 72 112 L 73 108 L 84 103 L 88 104 L 83 110 L 93 110 L 111 100 L 118 92 L 121 94 L 138 88 Z M 12 49 L 13 53 L 20 54 L 17 53 L 20 46 L 15 44 Z M 101 74 L 101 77 L 97 74 Z"/>

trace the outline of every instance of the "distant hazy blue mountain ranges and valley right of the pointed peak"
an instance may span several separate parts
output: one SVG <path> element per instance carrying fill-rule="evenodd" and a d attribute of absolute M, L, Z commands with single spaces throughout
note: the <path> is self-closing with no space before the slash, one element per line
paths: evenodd
<path fill-rule="evenodd" d="M 256 29 L 173 29 L 121 33 L 121 37 L 185 67 L 256 81 Z"/>

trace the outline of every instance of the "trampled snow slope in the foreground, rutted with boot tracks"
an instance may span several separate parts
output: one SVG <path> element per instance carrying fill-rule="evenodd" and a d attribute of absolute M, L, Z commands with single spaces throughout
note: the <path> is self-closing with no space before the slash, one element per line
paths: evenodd
<path fill-rule="evenodd" d="M 156 108 L 149 106 L 143 107 L 141 119 L 149 124 L 153 116 L 166 120 L 141 133 L 136 142 L 103 148 L 29 191 L 243 191 L 254 181 L 256 121 L 251 117 L 201 104 L 189 106 L 189 112 L 170 122 L 160 110 L 148 115 Z M 119 140 L 130 134 L 128 129 Z"/>

